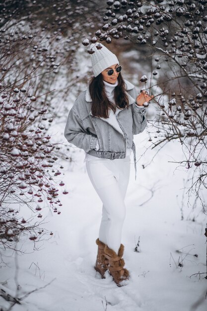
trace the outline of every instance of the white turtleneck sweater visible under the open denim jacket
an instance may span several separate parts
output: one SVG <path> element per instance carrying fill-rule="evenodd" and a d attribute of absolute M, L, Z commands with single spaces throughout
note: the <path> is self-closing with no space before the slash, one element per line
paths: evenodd
<path fill-rule="evenodd" d="M 114 83 L 114 84 L 110 84 L 110 83 L 104 81 L 104 84 L 105 84 L 105 91 L 106 91 L 107 97 L 109 98 L 110 101 L 112 101 L 112 102 L 115 103 L 115 101 L 114 101 L 114 89 L 115 89 L 115 87 L 118 85 L 118 81 L 116 81 L 116 83 Z M 120 110 L 121 110 L 121 109 L 119 109 L 118 107 L 116 107 L 115 113 L 113 112 L 112 109 L 110 109 L 110 111 L 109 111 L 109 118 L 112 120 L 112 122 L 113 122 L 116 126 L 118 126 L 119 129 L 120 129 L 120 125 L 119 125 L 119 123 L 118 123 L 118 121 L 117 121 L 116 115 L 117 115 L 117 113 L 118 113 Z M 99 144 L 98 144 L 98 142 L 97 142 L 97 144 L 96 144 L 95 150 L 96 150 L 96 151 L 99 150 Z M 129 155 L 131 154 L 131 151 L 132 151 L 131 148 L 127 148 L 126 156 L 129 156 Z M 97 157 L 97 156 L 91 156 L 91 155 L 85 153 L 84 162 L 85 162 L 85 161 L 88 161 L 88 160 L 90 160 L 90 159 L 91 159 L 91 160 L 92 160 L 92 159 L 93 159 L 93 160 L 94 160 L 94 159 L 97 159 L 97 160 L 98 160 L 99 157 Z"/>

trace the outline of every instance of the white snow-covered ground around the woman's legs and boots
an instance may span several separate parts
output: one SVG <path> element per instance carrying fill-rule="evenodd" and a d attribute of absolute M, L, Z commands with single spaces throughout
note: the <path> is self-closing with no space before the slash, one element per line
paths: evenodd
<path fill-rule="evenodd" d="M 56 129 L 57 135 L 63 135 L 63 128 L 59 133 Z M 145 151 L 147 140 L 147 129 L 134 137 L 138 157 Z M 28 253 L 8 257 L 8 266 L 1 266 L 0 282 L 13 295 L 16 285 L 19 297 L 43 287 L 21 305 L 16 304 L 13 311 L 207 310 L 205 275 L 190 278 L 206 271 L 205 215 L 199 213 L 199 207 L 192 212 L 184 200 L 181 220 L 183 178 L 188 172 L 175 170 L 176 164 L 168 163 L 181 158 L 179 143 L 168 144 L 143 169 L 142 164 L 147 164 L 154 153 L 149 151 L 139 159 L 137 181 L 131 156 L 122 239 L 131 273 L 129 284 L 119 288 L 108 274 L 101 279 L 93 268 L 102 203 L 87 176 L 84 152 L 74 147 L 74 162 L 63 163 L 65 175 L 60 177 L 69 194 L 60 198 L 61 215 L 48 213 L 49 223 L 45 225 L 53 230 L 53 236 L 37 251 L 33 251 L 32 241 L 25 241 L 22 248 Z M 154 193 L 148 200 L 151 190 Z M 194 216 L 195 222 L 186 220 Z M 135 252 L 139 236 L 140 252 Z M 203 302 L 193 308 L 200 298 Z M 9 303 L 0 298 L 0 306 L 6 308 Z"/>

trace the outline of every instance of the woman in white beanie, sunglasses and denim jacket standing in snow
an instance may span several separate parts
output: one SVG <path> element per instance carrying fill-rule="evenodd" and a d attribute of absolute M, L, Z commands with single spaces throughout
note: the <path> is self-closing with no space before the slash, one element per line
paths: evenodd
<path fill-rule="evenodd" d="M 94 77 L 69 111 L 64 134 L 69 143 L 85 151 L 88 176 L 103 203 L 94 268 L 102 278 L 108 270 L 122 286 L 129 279 L 121 235 L 131 150 L 137 172 L 133 135 L 146 127 L 143 103 L 153 96 L 145 91 L 137 94 L 135 86 L 122 78 L 116 55 L 105 46 L 93 44 L 90 53 Z"/>

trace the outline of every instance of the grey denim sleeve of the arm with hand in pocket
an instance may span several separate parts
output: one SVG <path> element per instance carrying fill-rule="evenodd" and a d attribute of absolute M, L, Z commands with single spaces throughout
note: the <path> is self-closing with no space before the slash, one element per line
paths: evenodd
<path fill-rule="evenodd" d="M 87 133 L 81 119 L 73 108 L 69 111 L 64 136 L 69 143 L 83 149 L 86 153 L 95 149 L 98 142 L 97 137 Z"/>

